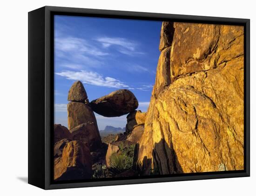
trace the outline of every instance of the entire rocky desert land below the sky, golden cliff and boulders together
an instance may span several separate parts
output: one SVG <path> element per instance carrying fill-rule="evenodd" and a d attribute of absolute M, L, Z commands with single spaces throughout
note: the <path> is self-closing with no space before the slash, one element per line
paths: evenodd
<path fill-rule="evenodd" d="M 243 33 L 243 26 L 162 22 L 147 112 L 133 89 L 90 100 L 73 81 L 67 127 L 54 124 L 54 180 L 243 170 Z M 109 118 L 105 132 L 94 113 Z M 120 116 L 126 126 L 111 126 Z"/>

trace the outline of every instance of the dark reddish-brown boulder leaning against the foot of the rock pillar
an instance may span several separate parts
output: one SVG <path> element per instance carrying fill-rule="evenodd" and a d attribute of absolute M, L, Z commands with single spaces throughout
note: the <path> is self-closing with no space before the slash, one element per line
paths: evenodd
<path fill-rule="evenodd" d="M 101 145 L 101 136 L 94 122 L 82 123 L 69 131 L 73 140 L 85 141 L 91 150 Z"/>

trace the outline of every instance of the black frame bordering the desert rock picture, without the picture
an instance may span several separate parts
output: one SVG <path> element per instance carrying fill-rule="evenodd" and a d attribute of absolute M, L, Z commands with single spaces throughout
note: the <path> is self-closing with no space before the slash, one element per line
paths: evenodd
<path fill-rule="evenodd" d="M 172 177 L 104 179 L 53 182 L 54 125 L 54 23 L 58 15 L 118 19 L 162 20 L 244 26 L 244 170 L 176 174 Z M 44 6 L 28 13 L 28 183 L 42 189 L 63 189 L 136 183 L 201 180 L 250 175 L 250 20 L 163 13 Z"/>

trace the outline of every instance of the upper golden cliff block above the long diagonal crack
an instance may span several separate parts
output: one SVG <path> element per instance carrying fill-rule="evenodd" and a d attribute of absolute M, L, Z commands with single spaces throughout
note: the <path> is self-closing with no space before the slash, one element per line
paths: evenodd
<path fill-rule="evenodd" d="M 243 56 L 243 27 L 175 23 L 171 55 L 172 81 L 224 66 Z"/>

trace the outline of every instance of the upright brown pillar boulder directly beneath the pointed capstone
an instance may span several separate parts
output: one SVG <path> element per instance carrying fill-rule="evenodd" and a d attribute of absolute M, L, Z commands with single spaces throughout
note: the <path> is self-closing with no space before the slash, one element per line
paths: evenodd
<path fill-rule="evenodd" d="M 87 104 L 81 102 L 69 102 L 67 104 L 67 126 L 72 129 L 82 123 L 93 123 L 98 130 L 95 115 Z"/>

